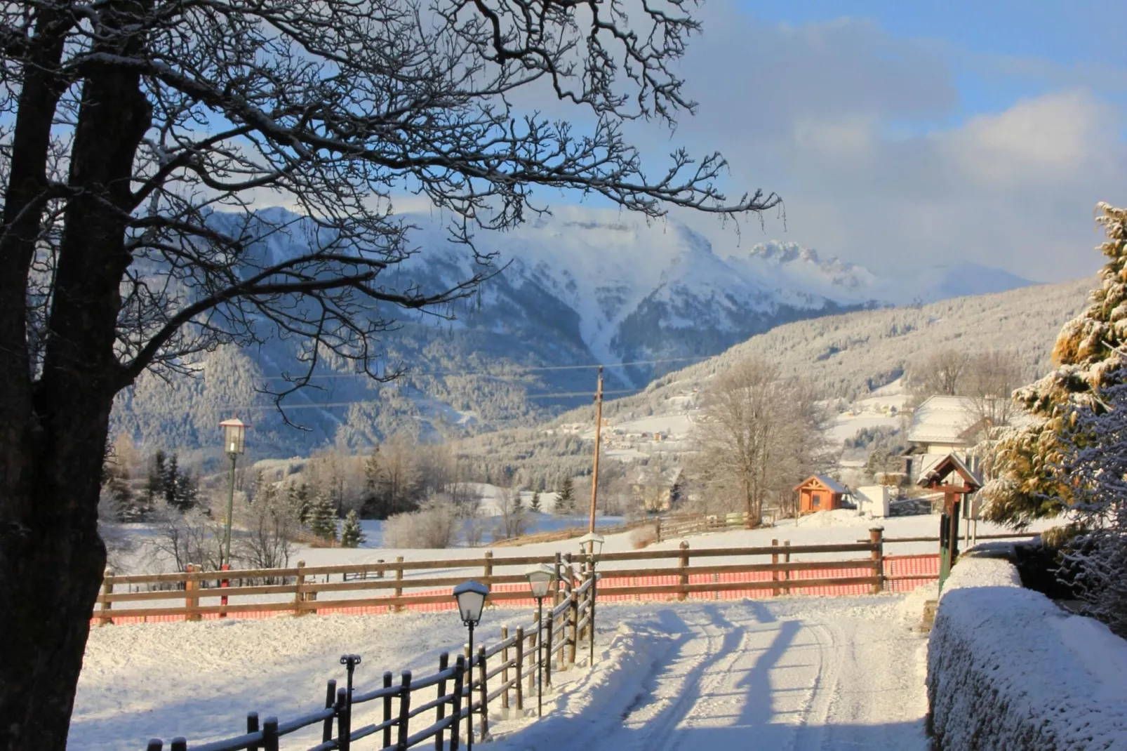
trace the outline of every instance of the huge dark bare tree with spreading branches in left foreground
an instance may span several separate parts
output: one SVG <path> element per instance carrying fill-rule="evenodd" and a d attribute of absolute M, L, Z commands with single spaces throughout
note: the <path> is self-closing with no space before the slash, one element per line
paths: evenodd
<path fill-rule="evenodd" d="M 651 176 L 625 139 L 692 111 L 673 65 L 698 28 L 681 0 L 629 21 L 607 0 L 0 2 L 0 750 L 65 746 L 116 394 L 276 335 L 303 344 L 283 406 L 326 356 L 391 378 L 397 311 L 449 316 L 494 273 L 397 273 L 393 194 L 463 244 L 542 211 L 538 187 L 648 217 L 777 205 L 728 201 L 719 154 Z M 531 88 L 588 124 L 515 111 Z M 296 213 L 254 211 L 270 195 Z"/>

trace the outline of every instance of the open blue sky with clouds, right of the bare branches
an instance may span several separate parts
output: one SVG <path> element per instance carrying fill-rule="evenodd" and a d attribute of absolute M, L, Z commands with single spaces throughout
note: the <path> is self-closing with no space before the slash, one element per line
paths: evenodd
<path fill-rule="evenodd" d="M 1094 205 L 1127 203 L 1127 2 L 709 0 L 700 12 L 684 70 L 701 108 L 675 140 L 719 148 L 734 186 L 787 202 L 786 222 L 766 218 L 738 245 L 678 215 L 721 253 L 775 238 L 875 271 L 1098 268 Z"/>

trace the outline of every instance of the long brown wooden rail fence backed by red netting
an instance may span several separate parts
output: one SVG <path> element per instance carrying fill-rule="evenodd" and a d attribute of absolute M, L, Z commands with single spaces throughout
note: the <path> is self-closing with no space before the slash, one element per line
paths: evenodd
<path fill-rule="evenodd" d="M 938 556 L 886 556 L 884 545 L 878 528 L 870 531 L 869 540 L 855 544 L 792 546 L 789 541 L 779 545 L 772 540 L 766 547 L 693 550 L 682 542 L 674 550 L 607 553 L 600 557 L 601 565 L 637 562 L 639 566 L 604 568 L 597 593 L 606 601 L 867 594 L 904 591 L 920 581 L 938 577 Z M 868 555 L 841 560 L 791 559 L 792 555 L 833 553 Z M 727 560 L 708 565 L 718 557 Z M 472 559 L 408 562 L 400 556 L 388 563 L 336 566 L 305 566 L 299 562 L 293 568 L 107 574 L 92 618 L 98 625 L 108 625 L 229 616 L 266 618 L 279 613 L 376 615 L 405 608 L 453 610 L 456 606 L 450 587 L 469 577 L 490 587 L 489 599 L 495 604 L 531 606 L 534 601 L 523 567 L 541 563 L 554 564 L 565 580 L 566 571 L 575 572 L 570 554 L 494 557 L 487 551 L 483 557 Z M 522 567 L 520 573 L 503 573 L 516 566 Z M 426 575 L 440 573 L 438 569 L 446 571 L 438 576 Z M 409 575 L 412 573 L 423 575 Z M 258 584 L 258 581 L 278 583 Z M 127 591 L 170 585 L 183 589 Z"/>

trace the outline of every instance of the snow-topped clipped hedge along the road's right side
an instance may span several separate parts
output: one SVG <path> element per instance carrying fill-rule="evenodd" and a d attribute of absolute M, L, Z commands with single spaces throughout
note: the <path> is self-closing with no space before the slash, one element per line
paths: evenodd
<path fill-rule="evenodd" d="M 937 746 L 1127 749 L 1127 640 L 975 553 L 943 587 L 928 648 Z"/>

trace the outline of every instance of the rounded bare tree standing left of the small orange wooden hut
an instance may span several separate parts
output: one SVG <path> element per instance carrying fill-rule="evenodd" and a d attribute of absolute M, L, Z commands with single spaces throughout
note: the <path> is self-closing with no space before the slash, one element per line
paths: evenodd
<path fill-rule="evenodd" d="M 816 468 L 822 419 L 807 386 L 783 380 L 761 360 L 717 374 L 695 428 L 693 468 L 706 505 L 742 510 L 748 525 L 757 524 L 769 501 L 786 501 Z"/>

